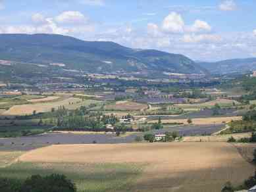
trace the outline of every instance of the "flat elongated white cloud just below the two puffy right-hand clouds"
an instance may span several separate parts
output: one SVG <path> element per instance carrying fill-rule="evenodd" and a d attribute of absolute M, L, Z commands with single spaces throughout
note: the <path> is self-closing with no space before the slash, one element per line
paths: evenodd
<path fill-rule="evenodd" d="M 200 35 L 190 35 L 186 34 L 182 37 L 182 41 L 185 43 L 199 43 L 199 42 L 218 42 L 221 40 L 220 36 L 213 34 L 200 34 Z"/>

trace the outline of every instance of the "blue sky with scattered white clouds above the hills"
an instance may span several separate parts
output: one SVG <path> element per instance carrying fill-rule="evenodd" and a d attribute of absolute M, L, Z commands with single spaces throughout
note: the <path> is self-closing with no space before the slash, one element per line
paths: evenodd
<path fill-rule="evenodd" d="M 62 34 L 193 60 L 256 57 L 255 0 L 0 0 L 1 34 Z"/>

